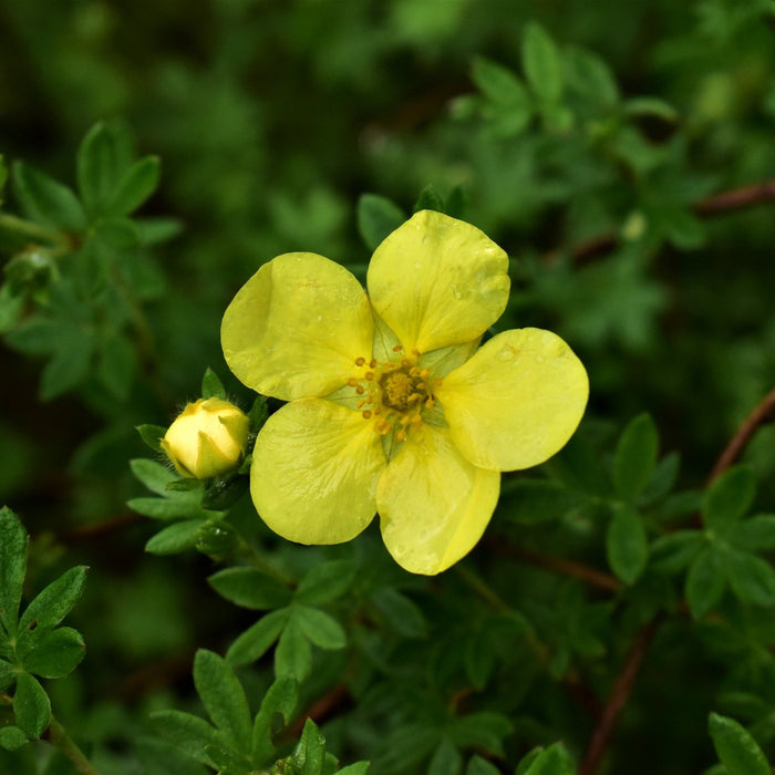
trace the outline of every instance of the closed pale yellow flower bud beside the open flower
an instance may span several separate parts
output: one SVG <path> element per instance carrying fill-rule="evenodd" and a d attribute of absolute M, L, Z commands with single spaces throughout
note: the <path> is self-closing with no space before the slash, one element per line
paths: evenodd
<path fill-rule="evenodd" d="M 236 468 L 248 446 L 250 421 L 221 399 L 188 404 L 169 426 L 162 448 L 182 476 L 207 479 Z"/>

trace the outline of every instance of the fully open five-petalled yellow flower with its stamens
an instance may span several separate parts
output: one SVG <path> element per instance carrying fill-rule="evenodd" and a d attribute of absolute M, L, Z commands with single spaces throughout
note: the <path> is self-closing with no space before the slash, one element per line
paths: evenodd
<path fill-rule="evenodd" d="M 343 267 L 293 252 L 262 266 L 224 316 L 249 388 L 289 403 L 256 441 L 250 492 L 269 527 L 338 544 L 380 515 L 395 560 L 438 574 L 478 541 L 500 472 L 558 452 L 587 404 L 587 372 L 556 334 L 504 331 L 506 254 L 423 210 L 376 249 L 369 296 Z"/>

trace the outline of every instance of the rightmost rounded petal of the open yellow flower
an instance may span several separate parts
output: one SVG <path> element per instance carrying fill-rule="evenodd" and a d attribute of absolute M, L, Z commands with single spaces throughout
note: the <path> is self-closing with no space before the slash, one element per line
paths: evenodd
<path fill-rule="evenodd" d="M 435 390 L 457 448 L 494 471 L 538 465 L 576 431 L 589 396 L 581 361 L 555 333 L 497 334 Z"/>

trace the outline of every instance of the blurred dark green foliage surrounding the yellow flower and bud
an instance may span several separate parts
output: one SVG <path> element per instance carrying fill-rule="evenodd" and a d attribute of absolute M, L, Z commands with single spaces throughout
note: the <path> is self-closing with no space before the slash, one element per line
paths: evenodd
<path fill-rule="evenodd" d="M 78 630 L 51 620 L 21 686 L 0 651 L 0 772 L 74 772 L 25 744 L 50 698 L 102 775 L 328 773 L 330 752 L 372 775 L 564 775 L 587 766 L 641 633 L 599 772 L 768 772 L 772 426 L 707 476 L 775 385 L 774 14 L 0 6 L 0 503 L 33 538 L 29 599 L 92 568 Z M 497 329 L 557 331 L 592 386 L 568 448 L 506 476 L 483 542 L 434 580 L 373 530 L 287 545 L 240 499 L 244 477 L 193 485 L 143 457 L 206 366 L 227 375 L 220 317 L 261 262 L 308 250 L 362 278 L 416 207 L 508 251 Z M 232 379 L 225 394 L 255 401 Z M 275 409 L 254 404 L 254 431 Z M 78 663 L 79 633 L 82 666 L 39 683 Z"/>

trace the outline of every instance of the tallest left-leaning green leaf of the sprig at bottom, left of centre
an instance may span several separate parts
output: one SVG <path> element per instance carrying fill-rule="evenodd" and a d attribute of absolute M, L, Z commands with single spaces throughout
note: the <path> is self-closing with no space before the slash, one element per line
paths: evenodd
<path fill-rule="evenodd" d="M 199 649 L 194 658 L 194 685 L 215 725 L 238 751 L 248 753 L 250 709 L 234 668 L 213 651 Z"/>

